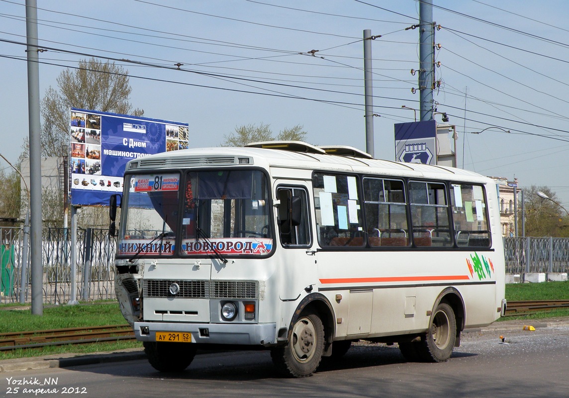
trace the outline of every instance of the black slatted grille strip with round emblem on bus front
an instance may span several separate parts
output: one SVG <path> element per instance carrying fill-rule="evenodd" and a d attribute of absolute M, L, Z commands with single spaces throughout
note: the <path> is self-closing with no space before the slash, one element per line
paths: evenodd
<path fill-rule="evenodd" d="M 170 293 L 172 284 L 180 286 L 175 296 Z M 249 298 L 259 297 L 258 283 L 255 281 L 179 281 L 155 280 L 144 281 L 143 297 L 163 298 Z"/>

